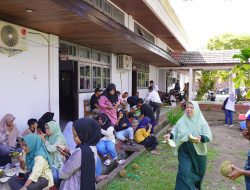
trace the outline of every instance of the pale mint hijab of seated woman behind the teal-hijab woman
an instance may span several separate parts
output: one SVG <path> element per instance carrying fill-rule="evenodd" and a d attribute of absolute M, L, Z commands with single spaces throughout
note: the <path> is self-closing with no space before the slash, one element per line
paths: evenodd
<path fill-rule="evenodd" d="M 55 144 L 56 142 L 64 142 L 64 145 L 66 144 L 65 138 L 62 134 L 60 126 L 55 121 L 50 121 L 47 123 L 47 125 L 50 128 L 51 135 L 45 136 L 45 139 L 49 141 L 51 144 Z"/>

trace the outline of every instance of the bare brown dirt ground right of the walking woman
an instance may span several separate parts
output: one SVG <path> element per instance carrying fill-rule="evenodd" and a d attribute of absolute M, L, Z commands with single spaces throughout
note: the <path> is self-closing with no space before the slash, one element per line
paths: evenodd
<path fill-rule="evenodd" d="M 210 147 L 216 152 L 216 160 L 210 161 L 211 167 L 207 168 L 204 189 L 212 190 L 244 190 L 245 182 L 241 177 L 237 181 L 231 181 L 220 174 L 220 164 L 229 160 L 234 165 L 244 167 L 249 149 L 249 141 L 241 136 L 237 119 L 234 119 L 234 127 L 224 125 L 224 113 L 203 112 L 212 130 L 214 140 Z M 236 117 L 236 116 L 235 116 Z"/>

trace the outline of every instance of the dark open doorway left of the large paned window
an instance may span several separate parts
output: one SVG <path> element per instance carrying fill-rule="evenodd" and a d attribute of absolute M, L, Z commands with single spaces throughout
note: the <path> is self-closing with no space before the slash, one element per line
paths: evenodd
<path fill-rule="evenodd" d="M 62 61 L 59 65 L 60 125 L 78 118 L 78 63 Z"/>

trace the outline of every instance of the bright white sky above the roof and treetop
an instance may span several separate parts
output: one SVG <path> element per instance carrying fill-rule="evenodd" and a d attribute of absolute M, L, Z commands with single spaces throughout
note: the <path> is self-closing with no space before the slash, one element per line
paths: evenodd
<path fill-rule="evenodd" d="M 250 34 L 250 0 L 169 0 L 186 31 L 192 49 L 204 49 L 208 39 L 224 33 Z"/>

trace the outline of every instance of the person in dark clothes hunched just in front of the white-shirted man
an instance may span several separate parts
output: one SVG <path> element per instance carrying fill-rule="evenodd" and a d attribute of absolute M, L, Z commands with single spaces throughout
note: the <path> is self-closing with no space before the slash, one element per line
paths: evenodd
<path fill-rule="evenodd" d="M 140 109 L 140 111 L 141 111 L 140 119 L 147 116 L 151 120 L 150 124 L 152 125 L 152 129 L 151 129 L 150 133 L 154 134 L 154 128 L 157 125 L 157 121 L 155 119 L 155 115 L 154 115 L 152 107 L 150 105 L 144 103 L 142 98 L 139 98 L 137 101 L 137 108 Z"/>

